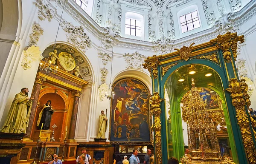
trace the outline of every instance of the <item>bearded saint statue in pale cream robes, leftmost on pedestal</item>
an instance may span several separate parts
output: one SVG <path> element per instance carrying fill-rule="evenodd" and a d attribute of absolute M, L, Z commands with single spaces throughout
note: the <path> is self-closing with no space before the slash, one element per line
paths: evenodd
<path fill-rule="evenodd" d="M 28 127 L 29 124 L 32 100 L 34 99 L 33 97 L 29 99 L 28 93 L 28 88 L 22 88 L 20 93 L 15 95 L 1 132 L 26 133 L 26 127 Z"/>

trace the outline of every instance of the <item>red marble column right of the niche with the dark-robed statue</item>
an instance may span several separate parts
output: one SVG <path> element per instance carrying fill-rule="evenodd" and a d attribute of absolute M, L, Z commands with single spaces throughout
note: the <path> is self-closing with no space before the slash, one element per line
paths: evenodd
<path fill-rule="evenodd" d="M 72 110 L 72 117 L 71 117 L 71 122 L 70 122 L 70 132 L 68 135 L 68 139 L 71 139 L 71 140 L 75 139 L 76 120 L 77 120 L 77 112 L 78 112 L 78 104 L 79 104 L 80 96 L 81 96 L 81 92 L 79 90 L 76 90 L 74 104 L 73 104 L 73 110 Z"/>

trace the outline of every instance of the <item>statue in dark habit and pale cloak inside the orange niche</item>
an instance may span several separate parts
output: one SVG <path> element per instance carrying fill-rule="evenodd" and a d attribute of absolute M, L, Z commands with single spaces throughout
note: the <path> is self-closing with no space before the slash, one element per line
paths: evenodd
<path fill-rule="evenodd" d="M 41 112 L 39 113 L 38 122 L 36 125 L 39 128 L 41 128 L 42 123 L 44 123 L 42 128 L 43 130 L 50 129 L 52 114 L 54 111 L 56 111 L 52 109 L 51 104 L 52 104 L 52 101 L 48 100 L 47 103 L 44 105 L 43 109 L 41 110 Z"/>

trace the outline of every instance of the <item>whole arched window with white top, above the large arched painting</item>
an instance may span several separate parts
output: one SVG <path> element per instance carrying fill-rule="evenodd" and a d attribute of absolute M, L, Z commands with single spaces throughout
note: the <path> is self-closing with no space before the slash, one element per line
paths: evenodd
<path fill-rule="evenodd" d="M 142 37 L 144 35 L 143 16 L 134 12 L 125 13 L 125 36 Z"/>

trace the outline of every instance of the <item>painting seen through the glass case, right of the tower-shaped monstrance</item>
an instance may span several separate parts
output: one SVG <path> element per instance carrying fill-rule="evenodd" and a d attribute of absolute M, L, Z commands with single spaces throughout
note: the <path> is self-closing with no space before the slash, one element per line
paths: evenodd
<path fill-rule="evenodd" d="M 209 88 L 198 88 L 199 94 L 204 101 L 204 104 L 207 109 L 217 109 L 218 105 L 218 97 L 214 90 Z"/>

